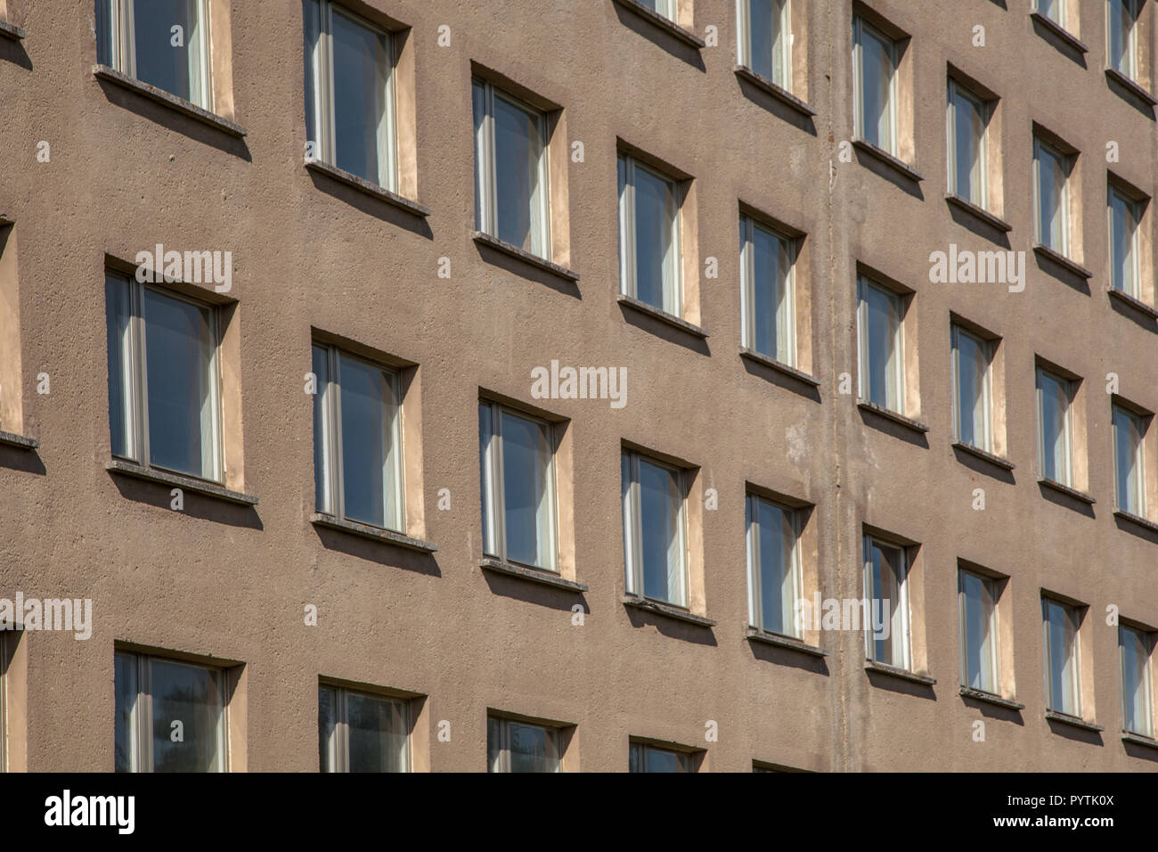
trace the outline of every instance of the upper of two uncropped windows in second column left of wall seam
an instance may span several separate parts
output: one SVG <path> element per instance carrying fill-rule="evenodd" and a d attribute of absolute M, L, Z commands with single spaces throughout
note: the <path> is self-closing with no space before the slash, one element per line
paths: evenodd
<path fill-rule="evenodd" d="M 680 204 L 675 181 L 620 154 L 620 291 L 679 316 Z"/>

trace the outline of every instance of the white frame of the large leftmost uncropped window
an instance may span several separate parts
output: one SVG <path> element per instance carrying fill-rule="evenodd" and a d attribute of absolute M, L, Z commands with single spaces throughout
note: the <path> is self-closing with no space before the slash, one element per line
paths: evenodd
<path fill-rule="evenodd" d="M 225 478 L 225 459 L 221 440 L 221 367 L 219 357 L 221 350 L 221 322 L 218 307 L 185 296 L 184 293 L 177 293 L 173 290 L 167 290 L 152 284 L 142 284 L 133 276 L 123 275 L 112 270 L 108 270 L 105 276 L 107 278 L 116 278 L 129 287 L 130 305 L 129 325 L 126 329 L 126 334 L 129 335 L 127 352 L 122 350 L 122 355 L 127 356 L 124 357 L 125 374 L 122 377 L 124 392 L 127 399 L 119 400 L 122 403 L 127 403 L 130 409 L 127 414 L 131 414 L 131 416 L 125 417 L 125 444 L 127 453 L 125 456 L 113 453 L 113 457 L 124 458 L 125 460 L 132 461 L 141 467 L 168 469 L 159 465 L 154 465 L 151 460 L 149 453 L 147 359 L 148 326 L 146 322 L 147 318 L 145 316 L 145 291 L 152 290 L 166 298 L 174 299 L 176 301 L 184 301 L 197 308 L 208 311 L 210 335 L 213 340 L 213 352 L 210 356 L 208 365 L 208 372 L 212 378 L 210 381 L 208 405 L 212 410 L 212 417 L 210 435 L 201 435 L 201 440 L 211 440 L 213 445 L 211 459 L 212 469 L 210 471 L 211 475 L 205 476 L 189 473 L 188 471 L 174 471 L 173 473 L 220 485 Z M 110 399 L 109 405 L 113 405 L 113 400 Z M 204 474 L 204 468 L 201 473 Z"/>

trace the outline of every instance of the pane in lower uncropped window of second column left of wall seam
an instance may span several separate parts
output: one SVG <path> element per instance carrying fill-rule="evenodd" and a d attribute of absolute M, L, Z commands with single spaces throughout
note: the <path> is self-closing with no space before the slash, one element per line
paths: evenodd
<path fill-rule="evenodd" d="M 684 606 L 683 495 L 679 476 L 666 467 L 639 459 L 639 533 L 644 596 Z"/>

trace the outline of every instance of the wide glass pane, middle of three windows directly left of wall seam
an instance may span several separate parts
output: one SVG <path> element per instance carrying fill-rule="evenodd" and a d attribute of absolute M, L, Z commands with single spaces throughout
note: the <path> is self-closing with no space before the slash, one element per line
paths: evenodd
<path fill-rule="evenodd" d="M 752 228 L 753 349 L 791 365 L 791 243 L 762 227 Z"/>

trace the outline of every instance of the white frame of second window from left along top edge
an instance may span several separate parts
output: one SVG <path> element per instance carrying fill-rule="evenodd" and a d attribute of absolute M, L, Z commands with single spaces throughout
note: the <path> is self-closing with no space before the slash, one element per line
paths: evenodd
<path fill-rule="evenodd" d="M 306 81 L 307 86 L 313 85 L 314 92 L 314 133 L 317 139 L 310 139 L 317 144 L 318 158 L 321 161 L 339 168 L 337 156 L 337 129 L 335 126 L 335 97 L 334 97 L 334 15 L 342 15 L 349 21 L 364 27 L 375 35 L 382 36 L 386 41 L 386 108 L 379 119 L 378 126 L 378 154 L 379 168 L 378 180 L 384 189 L 391 192 L 398 191 L 398 133 L 397 133 L 397 92 L 396 92 L 396 68 L 398 63 L 397 49 L 394 43 L 394 34 L 372 21 L 367 21 L 361 15 L 357 15 L 340 3 L 332 0 L 314 0 L 317 5 L 317 43 L 314 45 L 310 57 L 310 68 L 314 75 L 313 82 Z M 308 30 L 307 30 L 308 31 Z M 384 144 L 383 144 L 384 134 Z M 382 172 L 386 172 L 386 182 L 382 181 Z"/>

